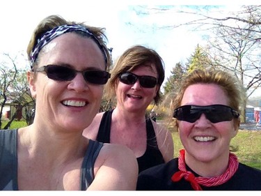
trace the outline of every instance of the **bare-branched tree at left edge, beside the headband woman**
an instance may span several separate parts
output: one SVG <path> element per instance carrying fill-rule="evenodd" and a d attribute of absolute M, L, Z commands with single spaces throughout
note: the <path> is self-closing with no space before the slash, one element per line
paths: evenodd
<path fill-rule="evenodd" d="M 26 122 L 28 124 L 33 121 L 33 113 L 31 112 L 32 108 L 35 105 L 33 98 L 31 97 L 31 93 L 29 91 L 29 86 L 26 81 L 26 71 L 17 68 L 17 56 L 14 58 L 10 56 L 10 54 L 3 54 L 5 60 L 0 62 L 0 103 L 1 110 L 0 114 L 3 114 L 3 107 L 6 103 L 13 105 L 16 107 L 15 112 L 13 112 L 13 116 L 10 116 L 10 120 L 6 124 L 3 129 L 6 129 L 10 126 L 12 121 L 17 118 L 17 113 L 22 112 L 22 109 L 25 108 Z M 30 108 L 30 109 L 29 109 Z M 30 110 L 27 115 L 28 110 Z M 0 128 L 2 122 L 0 121 Z"/>

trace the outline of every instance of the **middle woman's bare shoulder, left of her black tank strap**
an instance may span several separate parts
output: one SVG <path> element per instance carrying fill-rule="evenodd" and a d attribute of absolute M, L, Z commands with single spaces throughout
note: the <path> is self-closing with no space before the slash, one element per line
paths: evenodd
<path fill-rule="evenodd" d="M 83 131 L 84 137 L 88 137 L 91 140 L 96 140 L 103 114 L 104 112 L 100 112 L 96 114 L 92 123 L 90 123 L 90 125 L 84 129 Z"/>

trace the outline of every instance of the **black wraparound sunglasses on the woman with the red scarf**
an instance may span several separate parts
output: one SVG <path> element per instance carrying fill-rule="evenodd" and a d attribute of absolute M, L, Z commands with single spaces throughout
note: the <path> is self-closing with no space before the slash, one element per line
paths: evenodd
<path fill-rule="evenodd" d="M 183 105 L 174 110 L 173 117 L 179 121 L 194 123 L 201 114 L 205 114 L 212 123 L 231 121 L 233 118 L 239 117 L 239 112 L 228 105 Z"/>

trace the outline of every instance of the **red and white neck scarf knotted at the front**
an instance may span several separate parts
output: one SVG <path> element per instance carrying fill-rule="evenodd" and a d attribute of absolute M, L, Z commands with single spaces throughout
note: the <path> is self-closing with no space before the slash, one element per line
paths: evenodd
<path fill-rule="evenodd" d="M 212 178 L 205 178 L 205 177 L 196 177 L 191 172 L 187 171 L 186 165 L 185 165 L 185 151 L 184 149 L 180 150 L 180 156 L 178 158 L 178 168 L 180 171 L 175 172 L 173 176 L 171 177 L 171 180 L 173 182 L 180 181 L 182 177 L 191 183 L 191 186 L 194 190 L 202 190 L 200 185 L 203 186 L 218 186 L 223 183 L 226 183 L 234 174 L 237 172 L 238 168 L 238 160 L 237 156 L 235 154 L 230 153 L 229 154 L 229 162 L 228 162 L 228 169 L 226 169 L 226 172 L 221 174 L 221 176 L 212 177 Z"/>

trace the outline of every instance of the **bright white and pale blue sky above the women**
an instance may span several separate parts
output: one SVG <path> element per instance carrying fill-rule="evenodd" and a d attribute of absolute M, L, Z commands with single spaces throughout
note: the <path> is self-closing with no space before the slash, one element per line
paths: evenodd
<path fill-rule="evenodd" d="M 160 3 L 159 3 L 160 2 Z M 65 20 L 86 22 L 95 27 L 104 27 L 109 40 L 108 47 L 113 48 L 112 56 L 115 61 L 128 47 L 145 45 L 156 50 L 164 60 L 166 77 L 176 63 L 186 63 L 197 44 L 205 41 L 202 34 L 189 31 L 187 27 L 164 29 L 164 25 L 179 24 L 193 20 L 184 15 L 177 15 L 173 10 L 188 9 L 184 5 L 193 6 L 215 5 L 214 10 L 230 10 L 243 5 L 244 1 L 59 1 L 59 0 L 8 0 L 0 3 L 0 61 L 1 54 L 26 54 L 26 47 L 31 33 L 37 24 L 48 15 L 61 15 Z M 254 2 L 254 1 L 253 1 Z M 251 1 L 248 1 L 251 3 Z M 171 11 L 165 14 L 155 14 L 150 11 L 147 15 L 138 15 L 141 6 L 153 8 L 170 6 Z M 182 6 L 182 7 L 181 7 Z M 24 61 L 20 61 L 25 66 Z"/>

